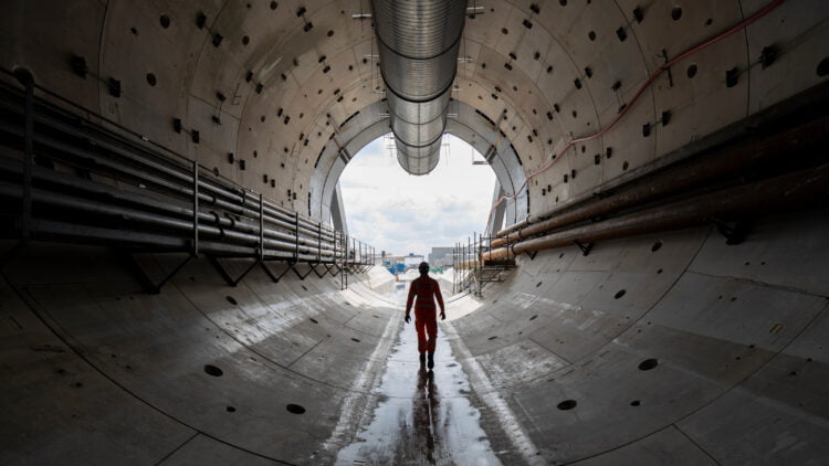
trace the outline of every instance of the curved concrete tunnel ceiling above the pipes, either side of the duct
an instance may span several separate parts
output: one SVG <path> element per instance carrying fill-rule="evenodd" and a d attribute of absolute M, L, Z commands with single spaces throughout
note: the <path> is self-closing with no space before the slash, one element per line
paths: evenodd
<path fill-rule="evenodd" d="M 355 115 L 358 130 L 386 118 L 382 106 L 372 106 L 385 94 L 368 3 L 18 1 L 0 19 L 10 31 L 0 54 L 4 66 L 25 66 L 39 84 L 327 220 L 323 187 L 339 172 L 332 167 L 347 142 L 342 127 Z M 452 98 L 478 112 L 455 117 L 466 120 L 450 130 L 489 125 L 514 148 L 518 159 L 504 161 L 505 171 L 521 172 L 512 180 L 521 183 L 571 138 L 608 125 L 667 60 L 765 4 L 471 2 Z M 524 201 L 513 220 L 818 84 L 829 67 L 827 8 L 820 0 L 784 2 L 678 63 L 612 130 L 533 179 L 529 208 Z M 85 61 L 85 78 L 73 74 L 73 56 Z M 117 97 L 109 78 L 120 83 Z"/>

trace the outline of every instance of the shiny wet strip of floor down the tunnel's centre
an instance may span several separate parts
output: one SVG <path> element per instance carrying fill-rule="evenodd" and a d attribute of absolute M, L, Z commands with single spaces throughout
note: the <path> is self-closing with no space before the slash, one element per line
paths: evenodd
<path fill-rule="evenodd" d="M 396 299 L 403 309 L 406 290 Z M 403 325 L 375 388 L 379 402 L 338 465 L 499 465 L 470 401 L 471 388 L 452 349 L 438 330 L 434 369 L 420 366 L 417 333 Z"/>

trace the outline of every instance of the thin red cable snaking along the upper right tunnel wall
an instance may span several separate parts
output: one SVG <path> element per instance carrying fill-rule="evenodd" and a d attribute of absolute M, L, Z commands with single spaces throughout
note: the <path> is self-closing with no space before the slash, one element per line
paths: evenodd
<path fill-rule="evenodd" d="M 633 104 L 639 99 L 639 97 L 642 95 L 642 93 L 644 93 L 644 91 L 648 87 L 650 87 L 650 85 L 653 84 L 653 82 L 657 80 L 657 77 L 659 77 L 664 71 L 667 71 L 669 67 L 671 67 L 673 64 L 680 62 L 681 60 L 684 60 L 684 59 L 693 55 L 694 53 L 696 53 L 696 52 L 699 52 L 699 51 L 701 51 L 701 50 L 703 50 L 703 49 L 705 49 L 705 47 L 707 47 L 710 45 L 713 45 L 713 44 L 722 41 L 723 39 L 725 39 L 725 38 L 732 35 L 732 34 L 734 34 L 735 32 L 745 29 L 749 24 L 754 23 L 755 21 L 757 21 L 760 18 L 765 17 L 766 14 L 768 14 L 769 11 L 772 11 L 775 8 L 779 7 L 780 3 L 783 3 L 784 1 L 786 1 L 786 0 L 774 0 L 773 2 L 768 3 L 763 9 L 760 9 L 759 11 L 757 11 L 756 13 L 752 14 L 751 17 L 748 17 L 743 22 L 736 24 L 735 27 L 728 29 L 727 31 L 721 33 L 720 35 L 716 35 L 716 36 L 714 36 L 712 39 L 709 39 L 707 41 L 705 41 L 705 42 L 703 42 L 703 43 L 701 43 L 701 44 L 699 44 L 699 45 L 696 45 L 694 47 L 691 47 L 691 49 L 686 50 L 685 52 L 676 55 L 674 59 L 665 62 L 662 66 L 660 66 L 657 70 L 655 73 L 653 73 L 653 75 L 650 78 L 648 78 L 648 81 L 644 82 L 644 84 L 641 85 L 641 87 L 639 87 L 639 89 L 637 91 L 637 93 L 633 95 L 633 98 L 630 100 L 630 104 L 626 105 L 625 108 L 622 108 L 622 110 L 619 113 L 619 115 L 617 115 L 616 118 L 613 118 L 613 120 L 610 121 L 610 124 L 605 127 L 605 129 L 602 129 L 602 130 L 600 130 L 600 131 L 598 131 L 598 133 L 596 133 L 594 135 L 585 136 L 585 137 L 577 138 L 577 139 L 573 139 L 571 141 L 567 142 L 567 145 L 564 148 L 562 148 L 562 150 L 559 150 L 558 153 L 550 161 L 548 161 L 545 166 L 543 166 L 538 170 L 529 173 L 529 176 L 527 176 L 526 180 L 524 181 L 524 184 L 522 184 L 521 188 L 518 188 L 518 190 L 514 194 L 512 194 L 512 195 L 504 194 L 501 198 L 499 198 L 499 200 L 494 204 L 492 204 L 492 208 L 490 209 L 490 215 L 486 218 L 486 229 L 489 230 L 489 227 L 490 227 L 489 226 L 490 220 L 492 219 L 492 212 L 495 210 L 495 208 L 497 208 L 502 202 L 504 202 L 507 199 L 515 200 L 515 198 L 517 198 L 518 195 L 521 195 L 521 193 L 527 188 L 527 183 L 529 183 L 529 180 L 533 177 L 535 177 L 535 176 L 537 176 L 539 173 L 543 173 L 543 172 L 547 171 L 550 167 L 553 167 L 553 165 L 558 159 L 562 158 L 562 156 L 567 151 L 567 149 L 569 149 L 570 147 L 575 146 L 578 142 L 584 142 L 584 141 L 587 141 L 587 140 L 591 140 L 591 139 L 596 139 L 598 137 L 601 137 L 605 133 L 609 131 L 610 128 L 612 128 L 613 126 L 616 126 L 616 124 L 619 123 L 619 120 L 628 113 L 628 110 L 630 109 L 630 107 L 633 106 Z"/>

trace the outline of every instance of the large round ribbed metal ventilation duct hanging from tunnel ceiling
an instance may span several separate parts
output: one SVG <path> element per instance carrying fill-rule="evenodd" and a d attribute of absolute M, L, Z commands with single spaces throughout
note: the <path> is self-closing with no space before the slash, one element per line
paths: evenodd
<path fill-rule="evenodd" d="M 426 174 L 440 158 L 466 0 L 372 0 L 397 159 Z"/>

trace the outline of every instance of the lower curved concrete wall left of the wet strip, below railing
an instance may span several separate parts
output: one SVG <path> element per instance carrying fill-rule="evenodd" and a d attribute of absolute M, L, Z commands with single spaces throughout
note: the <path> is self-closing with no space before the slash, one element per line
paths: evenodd
<path fill-rule="evenodd" d="M 141 262 L 160 279 L 179 260 Z M 323 460 L 401 324 L 365 283 L 376 275 L 340 292 L 256 269 L 233 288 L 200 260 L 147 295 L 127 271 L 112 251 L 49 244 L 3 269 L 3 464 Z"/>

